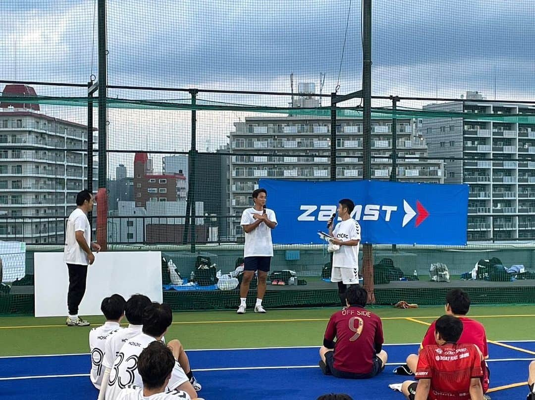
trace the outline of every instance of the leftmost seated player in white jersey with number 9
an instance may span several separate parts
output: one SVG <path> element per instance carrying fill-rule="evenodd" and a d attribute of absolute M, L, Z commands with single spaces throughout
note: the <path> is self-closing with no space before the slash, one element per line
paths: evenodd
<path fill-rule="evenodd" d="M 102 300 L 101 311 L 106 318 L 104 325 L 89 331 L 89 350 L 91 351 L 91 373 L 89 377 L 93 385 L 101 388 L 104 368 L 102 362 L 105 354 L 105 343 L 108 335 L 120 329 L 119 323 L 125 315 L 126 301 L 120 294 L 113 294 Z"/>

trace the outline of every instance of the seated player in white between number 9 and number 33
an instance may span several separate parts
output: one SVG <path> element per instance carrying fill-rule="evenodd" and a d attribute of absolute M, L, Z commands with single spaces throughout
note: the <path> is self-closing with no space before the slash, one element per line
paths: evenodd
<path fill-rule="evenodd" d="M 151 301 L 147 296 L 142 294 L 134 294 L 131 296 L 125 306 L 125 316 L 129 323 L 128 327 L 113 331 L 108 335 L 108 339 L 106 339 L 105 343 L 104 360 L 102 362 L 104 374 L 102 377 L 100 393 L 98 394 L 98 400 L 104 400 L 110 371 L 113 367 L 113 362 L 119 354 L 119 350 L 129 339 L 132 339 L 134 336 L 141 333 L 143 328 L 143 310 L 150 304 Z"/>

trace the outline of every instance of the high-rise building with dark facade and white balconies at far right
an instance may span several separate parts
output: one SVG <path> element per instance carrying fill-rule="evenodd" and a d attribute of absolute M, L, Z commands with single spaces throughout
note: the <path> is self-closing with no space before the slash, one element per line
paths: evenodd
<path fill-rule="evenodd" d="M 446 183 L 470 185 L 468 240 L 532 240 L 535 123 L 501 117 L 535 115 L 535 107 L 478 100 L 483 100 L 480 93 L 467 92 L 464 101 L 424 106 L 430 111 L 466 115 L 456 119 L 424 119 L 422 128 L 429 154 L 446 160 L 458 158 L 446 163 Z M 488 121 L 478 119 L 477 114 L 497 117 Z"/>

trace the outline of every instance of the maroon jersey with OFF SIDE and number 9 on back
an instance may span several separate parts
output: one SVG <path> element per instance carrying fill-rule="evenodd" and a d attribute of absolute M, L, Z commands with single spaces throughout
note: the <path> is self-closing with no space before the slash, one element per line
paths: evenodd
<path fill-rule="evenodd" d="M 325 330 L 325 339 L 333 341 L 333 366 L 338 371 L 369 374 L 376 349 L 383 345 L 383 324 L 373 312 L 352 305 L 335 312 Z"/>

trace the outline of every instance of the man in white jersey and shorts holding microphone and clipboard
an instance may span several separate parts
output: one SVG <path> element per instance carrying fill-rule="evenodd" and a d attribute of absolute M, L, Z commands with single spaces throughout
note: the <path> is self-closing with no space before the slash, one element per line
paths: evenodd
<path fill-rule="evenodd" d="M 355 203 L 350 199 L 342 199 L 338 203 L 338 216 L 342 222 L 336 224 L 333 229 L 332 218 L 328 222 L 329 233 L 333 245 L 340 248 L 333 253 L 331 270 L 331 282 L 338 283 L 340 304 L 346 307 L 347 285 L 358 284 L 358 246 L 361 242 L 361 226 L 351 213 Z"/>

